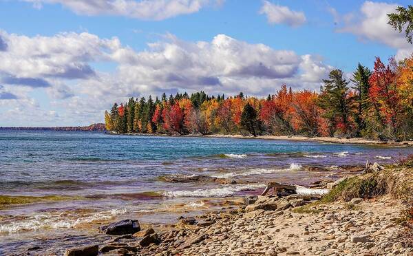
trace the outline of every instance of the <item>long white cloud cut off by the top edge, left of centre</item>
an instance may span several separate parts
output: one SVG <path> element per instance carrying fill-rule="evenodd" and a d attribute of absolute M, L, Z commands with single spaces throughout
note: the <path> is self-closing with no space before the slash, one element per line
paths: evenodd
<path fill-rule="evenodd" d="M 42 3 L 59 3 L 76 14 L 125 16 L 160 21 L 191 14 L 223 0 L 23 0 L 41 8 Z"/>

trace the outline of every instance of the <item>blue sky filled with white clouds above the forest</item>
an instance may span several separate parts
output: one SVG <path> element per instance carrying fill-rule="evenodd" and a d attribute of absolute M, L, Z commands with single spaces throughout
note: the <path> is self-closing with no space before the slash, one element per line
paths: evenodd
<path fill-rule="evenodd" d="M 399 1 L 0 0 L 0 127 L 103 122 L 114 102 L 319 90 L 413 53 Z"/>

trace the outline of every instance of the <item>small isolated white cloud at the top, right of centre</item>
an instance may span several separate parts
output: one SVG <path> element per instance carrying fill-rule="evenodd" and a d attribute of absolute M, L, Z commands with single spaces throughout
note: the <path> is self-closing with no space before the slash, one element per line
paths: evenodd
<path fill-rule="evenodd" d="M 287 6 L 279 6 L 264 0 L 260 14 L 265 14 L 270 24 L 286 24 L 290 27 L 298 27 L 306 23 L 304 12 L 290 10 Z"/>

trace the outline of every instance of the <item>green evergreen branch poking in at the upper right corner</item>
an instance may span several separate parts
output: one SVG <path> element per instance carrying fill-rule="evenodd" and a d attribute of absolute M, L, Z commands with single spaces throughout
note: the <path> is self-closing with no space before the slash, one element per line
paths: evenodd
<path fill-rule="evenodd" d="M 413 6 L 407 6 L 407 8 L 399 6 L 396 12 L 388 14 L 388 17 L 390 20 L 388 24 L 399 33 L 404 30 L 407 41 L 413 43 Z"/>

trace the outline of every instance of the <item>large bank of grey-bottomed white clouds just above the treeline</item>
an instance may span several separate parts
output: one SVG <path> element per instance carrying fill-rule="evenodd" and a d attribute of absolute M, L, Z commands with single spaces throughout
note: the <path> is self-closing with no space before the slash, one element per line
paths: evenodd
<path fill-rule="evenodd" d="M 101 122 L 105 109 L 131 96 L 201 89 L 209 94 L 242 91 L 250 96 L 265 96 L 275 93 L 283 83 L 296 89 L 318 89 L 321 79 L 332 69 L 317 56 L 300 56 L 291 50 L 276 50 L 224 34 L 198 42 L 167 34 L 142 51 L 122 45 L 116 38 L 100 39 L 89 33 L 0 35 L 8 45 L 6 51 L 0 52 L 0 81 L 6 82 L 0 90 L 0 107 L 10 103 L 10 109 L 0 116 L 0 124 L 25 104 L 29 107 L 21 112 L 21 122 L 24 118 L 27 122 L 41 119 L 40 114 L 30 116 L 36 111 L 45 115 L 45 122 L 57 115 L 56 125 L 67 125 L 67 120 L 74 125 L 87 125 Z M 116 69 L 92 69 L 92 63 L 99 62 L 115 63 Z M 67 72 L 70 67 L 88 68 Z M 50 109 L 42 109 L 31 98 L 34 90 L 47 93 Z"/>

